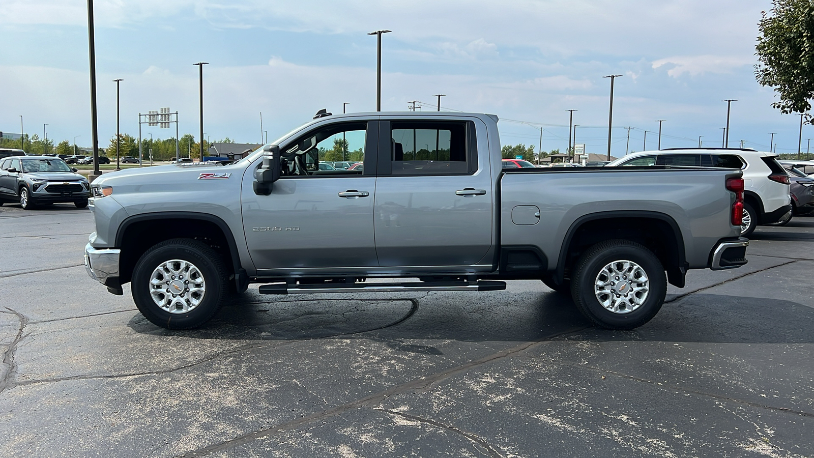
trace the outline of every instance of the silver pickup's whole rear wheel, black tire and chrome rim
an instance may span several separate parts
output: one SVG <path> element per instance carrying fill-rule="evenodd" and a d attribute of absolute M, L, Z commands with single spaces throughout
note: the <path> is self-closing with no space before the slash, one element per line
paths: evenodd
<path fill-rule="evenodd" d="M 606 329 L 633 329 L 661 309 L 667 276 L 659 258 L 641 244 L 607 240 L 576 262 L 571 297 L 582 314 Z"/>

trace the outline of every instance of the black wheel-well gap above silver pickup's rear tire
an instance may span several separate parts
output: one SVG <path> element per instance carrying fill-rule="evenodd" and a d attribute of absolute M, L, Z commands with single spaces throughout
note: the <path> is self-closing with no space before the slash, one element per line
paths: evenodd
<path fill-rule="evenodd" d="M 599 231 L 600 224 L 606 230 Z M 653 235 L 664 236 L 663 242 L 659 243 Z M 646 210 L 597 212 L 577 218 L 562 240 L 554 281 L 562 283 L 568 278 L 571 266 L 589 246 L 611 239 L 632 240 L 646 246 L 662 262 L 670 284 L 684 288 L 689 264 L 681 228 L 670 215 Z"/>

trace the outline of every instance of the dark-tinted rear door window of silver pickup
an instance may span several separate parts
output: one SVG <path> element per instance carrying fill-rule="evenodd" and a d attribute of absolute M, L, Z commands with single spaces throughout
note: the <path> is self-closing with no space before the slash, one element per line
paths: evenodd
<path fill-rule="evenodd" d="M 466 121 L 393 121 L 393 175 L 470 174 L 477 170 Z"/>

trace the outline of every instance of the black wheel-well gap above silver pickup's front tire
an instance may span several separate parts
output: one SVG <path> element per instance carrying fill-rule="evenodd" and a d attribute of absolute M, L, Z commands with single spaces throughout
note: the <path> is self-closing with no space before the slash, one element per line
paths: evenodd
<path fill-rule="evenodd" d="M 170 231 L 167 226 L 171 227 Z M 247 288 L 248 277 L 241 266 L 238 245 L 229 225 L 215 215 L 199 212 L 155 212 L 125 218 L 115 239 L 115 246 L 121 249 L 120 284 L 130 281 L 133 266 L 147 249 L 164 240 L 175 239 L 179 233 L 210 244 L 224 258 L 235 290 L 242 292 Z"/>

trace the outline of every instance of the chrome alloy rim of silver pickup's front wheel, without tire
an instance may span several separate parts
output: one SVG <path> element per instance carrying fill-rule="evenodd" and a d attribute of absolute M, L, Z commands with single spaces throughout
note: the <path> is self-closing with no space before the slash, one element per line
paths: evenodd
<path fill-rule="evenodd" d="M 169 313 L 186 313 L 204 300 L 206 282 L 198 267 L 182 259 L 162 262 L 150 275 L 150 296 Z"/>

